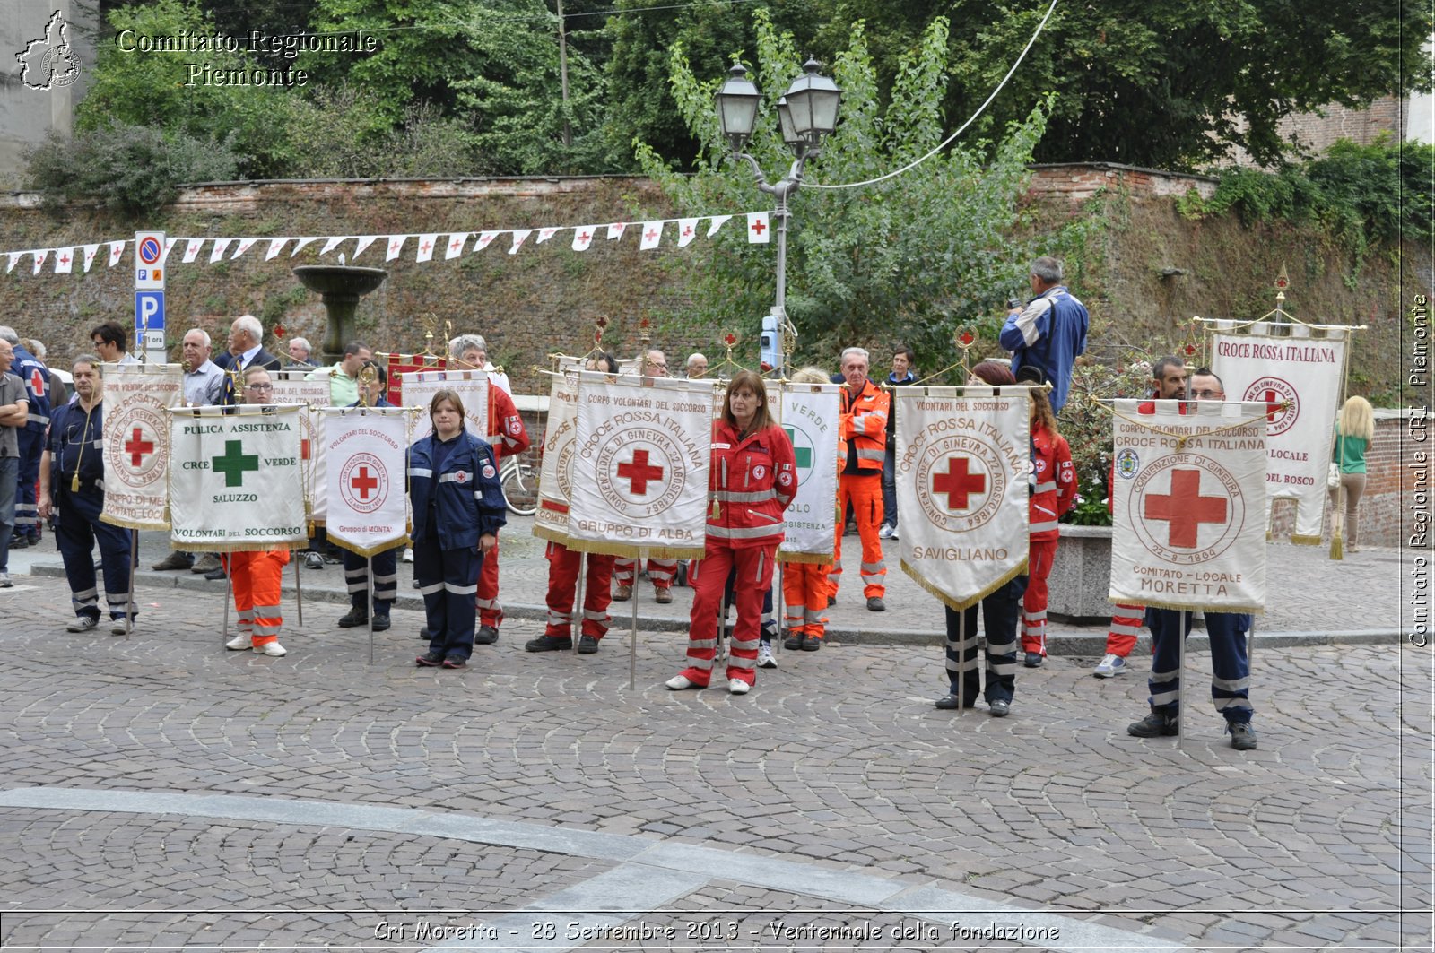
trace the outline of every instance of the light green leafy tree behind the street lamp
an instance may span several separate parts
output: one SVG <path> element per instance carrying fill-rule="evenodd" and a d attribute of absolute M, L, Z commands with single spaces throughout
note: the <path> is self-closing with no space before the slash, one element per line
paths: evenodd
<path fill-rule="evenodd" d="M 786 168 L 791 154 L 778 135 L 776 99 L 801 72 L 792 36 L 763 10 L 753 13 L 759 89 L 758 132 L 749 152 L 768 169 Z M 858 182 L 900 166 L 941 141 L 947 23 L 938 17 L 900 60 L 893 100 L 880 108 L 862 24 L 832 73 L 844 90 L 838 131 L 809 162 L 794 199 L 788 245 L 788 314 L 802 334 L 799 355 L 828 357 L 857 342 L 911 343 L 927 367 L 950 360 L 954 323 L 990 314 L 1017 287 L 1025 261 L 1007 235 L 1025 164 L 1040 139 L 1045 112 L 1012 123 L 990 161 L 977 149 L 953 148 L 877 185 Z M 695 139 L 697 171 L 680 175 L 649 144 L 637 144 L 643 171 L 659 181 L 683 214 L 769 208 L 743 169 L 729 166 L 713 109 L 720 78 L 700 82 L 682 47 L 672 53 L 673 96 Z M 713 266 L 700 281 L 699 320 L 730 323 L 769 310 L 772 247 L 749 245 L 740 230 L 719 233 Z M 875 337 L 874 334 L 881 334 Z"/>

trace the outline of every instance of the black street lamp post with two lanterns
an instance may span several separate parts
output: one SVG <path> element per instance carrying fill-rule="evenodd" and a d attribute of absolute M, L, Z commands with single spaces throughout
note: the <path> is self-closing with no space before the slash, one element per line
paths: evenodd
<path fill-rule="evenodd" d="M 778 99 L 778 122 L 782 128 L 782 141 L 792 149 L 795 156 L 792 168 L 786 177 L 769 184 L 762 174 L 758 161 L 743 152 L 743 146 L 752 136 L 752 129 L 758 122 L 758 103 L 762 93 L 756 85 L 748 79 L 748 70 L 740 63 L 735 63 L 728 70 L 728 79 L 718 90 L 718 121 L 722 125 L 723 138 L 732 149 L 732 158 L 746 159 L 752 166 L 752 174 L 758 179 L 758 188 L 776 199 L 772 211 L 778 234 L 778 288 L 772 304 L 772 311 L 762 319 L 762 369 L 779 369 L 786 373 L 785 336 L 791 332 L 796 336 L 791 321 L 788 321 L 788 218 L 791 210 L 788 199 L 802 187 L 802 168 L 809 158 L 818 155 L 822 148 L 822 138 L 837 128 L 837 109 L 842 100 L 842 90 L 818 70 L 822 65 L 809 59 L 802 65 L 802 75 L 792 80 L 788 92 Z"/>

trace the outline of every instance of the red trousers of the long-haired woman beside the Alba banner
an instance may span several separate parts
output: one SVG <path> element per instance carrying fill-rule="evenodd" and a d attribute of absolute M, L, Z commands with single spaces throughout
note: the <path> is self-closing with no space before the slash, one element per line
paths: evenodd
<path fill-rule="evenodd" d="M 728 587 L 728 573 L 738 567 L 733 594 L 738 621 L 728 650 L 728 680 L 758 682 L 758 640 L 762 626 L 762 596 L 772 587 L 772 561 L 778 544 L 733 548 L 707 537 L 703 571 L 693 588 L 693 613 L 687 624 L 687 667 L 679 675 L 693 685 L 706 686 L 718 654 L 718 613 Z"/>

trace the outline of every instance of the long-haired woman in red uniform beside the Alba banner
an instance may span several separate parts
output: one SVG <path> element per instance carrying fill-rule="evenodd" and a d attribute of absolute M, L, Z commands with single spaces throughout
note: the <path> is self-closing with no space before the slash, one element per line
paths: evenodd
<path fill-rule="evenodd" d="M 738 571 L 738 624 L 728 654 L 728 690 L 745 695 L 758 680 L 753 666 L 762 594 L 772 586 L 782 514 L 796 494 L 795 462 L 792 442 L 768 409 L 762 377 L 751 370 L 733 375 L 722 418 L 713 422 L 707 548 L 693 590 L 687 667 L 667 680 L 669 689 L 707 687 L 718 650 L 718 610 L 732 568 Z"/>

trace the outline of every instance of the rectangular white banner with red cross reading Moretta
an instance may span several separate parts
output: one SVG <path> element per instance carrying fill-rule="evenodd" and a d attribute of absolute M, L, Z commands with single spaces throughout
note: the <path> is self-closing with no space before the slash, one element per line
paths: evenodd
<path fill-rule="evenodd" d="M 1264 611 L 1266 403 L 1149 405 L 1114 406 L 1111 601 Z"/>

